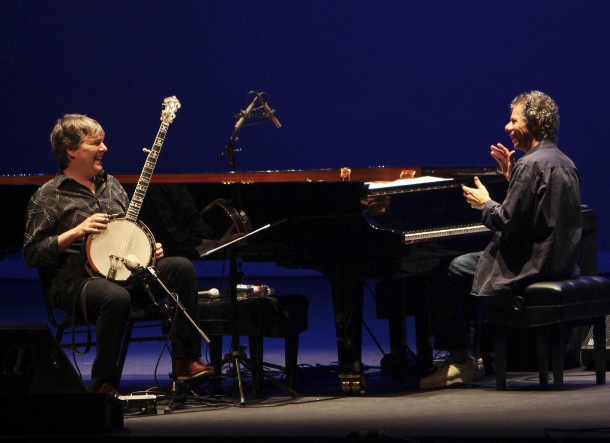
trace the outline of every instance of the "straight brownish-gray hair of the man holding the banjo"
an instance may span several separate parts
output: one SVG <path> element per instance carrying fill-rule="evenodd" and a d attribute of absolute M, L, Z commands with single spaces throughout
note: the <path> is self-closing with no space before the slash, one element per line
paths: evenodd
<path fill-rule="evenodd" d="M 51 150 L 55 154 L 57 165 L 68 168 L 70 158 L 68 149 L 76 151 L 89 135 L 105 135 L 104 129 L 94 119 L 82 114 L 66 114 L 55 124 L 51 132 Z"/>

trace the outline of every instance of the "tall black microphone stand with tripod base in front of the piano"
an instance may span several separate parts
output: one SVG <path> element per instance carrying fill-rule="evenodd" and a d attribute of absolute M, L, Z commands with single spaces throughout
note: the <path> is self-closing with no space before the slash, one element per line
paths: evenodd
<path fill-rule="evenodd" d="M 224 151 L 220 156 L 219 161 L 222 161 L 226 155 L 229 156 L 229 166 L 231 167 L 231 172 L 235 172 L 235 152 L 240 152 L 241 150 L 235 149 L 235 142 L 238 140 L 237 135 L 239 134 L 239 130 L 241 129 L 243 122 L 249 118 L 259 117 L 258 115 L 251 115 L 251 111 L 254 108 L 254 104 L 257 100 L 260 99 L 260 94 L 255 91 L 250 91 L 249 94 L 254 93 L 253 101 L 248 105 L 245 111 L 242 111 L 239 114 L 239 120 L 235 123 L 235 129 L 229 138 L 229 143 L 224 147 Z M 239 195 L 239 188 L 235 188 L 235 193 L 237 194 L 237 203 L 239 206 L 239 210 L 242 210 L 242 202 Z M 235 396 L 239 395 L 240 403 L 244 403 L 245 399 L 243 396 L 243 383 L 242 383 L 242 375 L 240 372 L 240 365 L 245 366 L 250 370 L 252 377 L 257 377 L 260 374 L 264 375 L 271 381 L 275 386 L 284 391 L 286 394 L 290 395 L 292 398 L 296 397 L 296 392 L 293 389 L 290 389 L 289 386 L 284 385 L 281 381 L 276 380 L 271 374 L 265 371 L 262 367 L 257 366 L 253 363 L 249 358 L 246 357 L 246 353 L 239 345 L 239 309 L 237 306 L 237 283 L 238 283 L 238 271 L 237 271 L 237 245 L 231 244 L 227 248 L 227 255 L 229 258 L 229 286 L 231 289 L 231 352 L 226 353 L 224 355 L 223 364 L 231 363 L 233 365 L 233 383 L 234 386 L 237 386 L 237 392 L 235 392 Z"/>

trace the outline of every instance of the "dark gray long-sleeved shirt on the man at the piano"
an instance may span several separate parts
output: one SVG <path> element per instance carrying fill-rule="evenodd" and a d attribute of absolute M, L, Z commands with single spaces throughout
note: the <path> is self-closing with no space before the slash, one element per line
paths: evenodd
<path fill-rule="evenodd" d="M 482 223 L 496 233 L 476 266 L 473 295 L 575 277 L 582 229 L 576 166 L 541 141 L 517 161 L 504 201 L 485 204 Z"/>

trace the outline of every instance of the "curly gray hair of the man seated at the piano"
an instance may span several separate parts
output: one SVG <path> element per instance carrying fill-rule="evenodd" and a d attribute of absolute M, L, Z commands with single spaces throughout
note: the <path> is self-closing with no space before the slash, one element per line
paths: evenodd
<path fill-rule="evenodd" d="M 559 107 L 547 94 L 530 91 L 514 98 L 511 110 L 523 104 L 523 118 L 536 140 L 557 141 L 559 131 Z"/>

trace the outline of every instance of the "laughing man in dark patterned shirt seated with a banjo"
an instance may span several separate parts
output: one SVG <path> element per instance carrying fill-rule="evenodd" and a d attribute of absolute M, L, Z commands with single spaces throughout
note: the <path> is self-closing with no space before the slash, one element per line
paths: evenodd
<path fill-rule="evenodd" d="M 102 168 L 102 157 L 108 151 L 104 135 L 99 123 L 85 115 L 68 114 L 57 121 L 51 147 L 60 171 L 30 199 L 23 255 L 29 266 L 52 269 L 51 296 L 66 312 L 82 313 L 84 292 L 87 319 L 96 324 L 91 389 L 116 396 L 117 360 L 131 305 L 145 306 L 151 300 L 137 286 L 91 278 L 79 258 L 83 238 L 103 232 L 110 217 L 124 214 L 129 207 L 123 187 Z M 219 243 L 233 236 L 227 234 Z M 156 264 L 160 280 L 178 294 L 196 322 L 198 288 L 193 264 L 183 257 L 163 258 L 160 243 L 155 245 L 154 255 L 161 259 Z M 157 299 L 165 294 L 156 282 L 151 289 Z M 185 316 L 176 317 L 174 330 L 171 340 L 179 379 L 213 374 L 213 367 L 199 360 L 201 339 Z"/>

